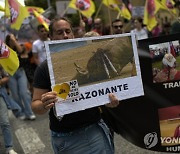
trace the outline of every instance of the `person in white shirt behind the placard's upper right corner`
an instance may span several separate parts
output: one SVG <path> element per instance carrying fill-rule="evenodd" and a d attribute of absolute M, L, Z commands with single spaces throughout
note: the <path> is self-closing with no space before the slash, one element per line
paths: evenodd
<path fill-rule="evenodd" d="M 134 29 L 131 30 L 136 34 L 137 40 L 148 38 L 147 29 L 143 26 L 143 19 L 138 17 L 134 20 Z"/>

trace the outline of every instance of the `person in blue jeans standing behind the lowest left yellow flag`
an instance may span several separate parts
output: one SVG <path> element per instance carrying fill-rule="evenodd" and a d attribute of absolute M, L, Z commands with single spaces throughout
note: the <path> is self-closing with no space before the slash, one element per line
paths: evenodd
<path fill-rule="evenodd" d="M 7 35 L 5 41 L 18 55 L 22 53 L 22 48 L 13 34 Z M 18 103 L 22 110 L 22 113 L 18 118 L 21 120 L 34 120 L 36 116 L 31 109 L 31 93 L 28 89 L 28 80 L 21 63 L 15 74 L 10 76 L 8 87 L 13 99 Z"/>

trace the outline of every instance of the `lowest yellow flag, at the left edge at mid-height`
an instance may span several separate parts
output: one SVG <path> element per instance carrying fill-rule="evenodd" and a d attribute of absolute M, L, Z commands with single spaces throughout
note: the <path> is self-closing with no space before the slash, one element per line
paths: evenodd
<path fill-rule="evenodd" d="M 13 75 L 19 67 L 19 59 L 15 51 L 0 40 L 0 64 L 6 72 Z"/>

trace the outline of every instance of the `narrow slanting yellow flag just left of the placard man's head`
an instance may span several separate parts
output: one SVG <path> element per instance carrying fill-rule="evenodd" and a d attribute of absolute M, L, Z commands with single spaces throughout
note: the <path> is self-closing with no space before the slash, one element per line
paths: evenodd
<path fill-rule="evenodd" d="M 45 18 L 43 15 L 39 14 L 37 11 L 33 10 L 34 16 L 36 17 L 36 19 L 38 20 L 38 22 L 40 24 L 42 24 L 47 31 L 49 31 L 49 23 L 50 21 Z"/>

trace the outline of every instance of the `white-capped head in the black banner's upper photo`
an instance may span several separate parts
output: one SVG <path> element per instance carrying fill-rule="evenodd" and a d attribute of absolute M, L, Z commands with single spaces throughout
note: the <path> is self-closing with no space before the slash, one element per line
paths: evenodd
<path fill-rule="evenodd" d="M 176 59 L 174 58 L 174 56 L 172 54 L 167 53 L 164 55 L 164 57 L 162 59 L 162 64 L 164 67 L 173 68 L 176 65 Z"/>

